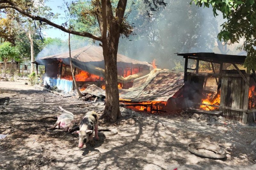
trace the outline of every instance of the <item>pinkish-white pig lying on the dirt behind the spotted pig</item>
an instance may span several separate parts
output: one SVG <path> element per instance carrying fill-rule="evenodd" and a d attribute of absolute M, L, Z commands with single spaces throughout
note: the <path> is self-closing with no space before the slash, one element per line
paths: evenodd
<path fill-rule="evenodd" d="M 75 120 L 73 113 L 60 107 L 62 114 L 58 116 L 58 120 L 50 129 L 64 129 L 65 131 L 70 131 L 75 126 Z"/>

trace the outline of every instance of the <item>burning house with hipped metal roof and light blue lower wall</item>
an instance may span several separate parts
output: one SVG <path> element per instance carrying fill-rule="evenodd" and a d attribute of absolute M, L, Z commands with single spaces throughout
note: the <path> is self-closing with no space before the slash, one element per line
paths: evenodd
<path fill-rule="evenodd" d="M 71 58 L 77 84 L 81 90 L 83 85 L 96 85 L 104 89 L 104 58 L 102 48 L 86 46 L 71 51 Z M 44 85 L 57 86 L 70 92 L 74 89 L 69 52 L 45 56 L 37 59 L 36 66 L 45 66 Z M 38 67 L 36 67 L 38 68 Z M 117 54 L 118 87 L 129 88 L 133 80 L 147 75 L 153 66 L 148 62 L 141 62 L 127 56 Z"/>

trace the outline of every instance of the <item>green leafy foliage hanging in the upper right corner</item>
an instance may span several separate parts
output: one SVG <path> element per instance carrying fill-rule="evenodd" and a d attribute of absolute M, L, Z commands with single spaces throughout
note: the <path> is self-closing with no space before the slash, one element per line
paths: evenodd
<path fill-rule="evenodd" d="M 218 34 L 219 40 L 236 43 L 244 39 L 243 49 L 247 52 L 244 63 L 249 69 L 256 68 L 256 3 L 255 0 L 193 0 L 198 6 L 212 5 L 214 15 L 217 11 L 227 18 Z"/>

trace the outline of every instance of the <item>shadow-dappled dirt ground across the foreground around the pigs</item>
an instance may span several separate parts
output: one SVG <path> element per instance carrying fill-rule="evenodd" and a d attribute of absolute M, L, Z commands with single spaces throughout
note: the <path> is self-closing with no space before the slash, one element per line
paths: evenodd
<path fill-rule="evenodd" d="M 0 139 L 0 169 L 256 169 L 256 150 L 250 146 L 255 127 L 211 126 L 183 112 L 151 115 L 122 108 L 122 118 L 108 125 L 117 135 L 100 136 L 95 146 L 80 149 L 77 135 L 47 130 L 60 114 L 58 106 L 73 112 L 77 124 L 87 111 L 104 109 L 101 102 L 86 102 L 85 108 L 77 107 L 79 103 L 84 102 L 24 81 L 1 81 L 0 134 L 6 138 Z M 227 158 L 198 157 L 187 149 L 194 142 L 219 145 L 227 150 Z"/>

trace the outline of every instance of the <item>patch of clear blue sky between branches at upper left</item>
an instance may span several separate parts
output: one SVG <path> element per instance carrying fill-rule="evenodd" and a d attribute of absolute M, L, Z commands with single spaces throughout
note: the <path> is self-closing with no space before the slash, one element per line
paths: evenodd
<path fill-rule="evenodd" d="M 71 0 L 66 0 L 66 1 L 71 2 Z M 66 20 L 64 19 L 65 18 L 64 10 L 61 10 L 58 7 L 58 6 L 62 6 L 62 4 L 63 4 L 63 0 L 49 0 L 48 2 L 46 2 L 46 5 L 52 8 L 52 12 L 54 14 L 56 14 L 56 13 L 60 14 L 58 19 L 51 20 L 52 22 L 54 22 L 58 25 L 61 25 L 62 23 L 66 22 Z M 65 40 L 68 38 L 68 33 L 64 33 L 63 31 L 60 31 L 57 28 L 47 29 L 47 30 L 44 30 L 43 32 L 47 37 L 51 37 L 51 38 L 60 38 L 62 40 Z"/>

